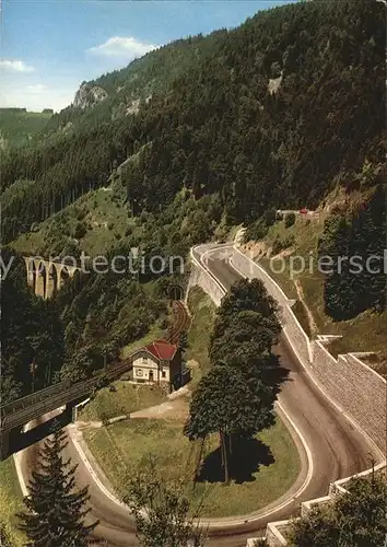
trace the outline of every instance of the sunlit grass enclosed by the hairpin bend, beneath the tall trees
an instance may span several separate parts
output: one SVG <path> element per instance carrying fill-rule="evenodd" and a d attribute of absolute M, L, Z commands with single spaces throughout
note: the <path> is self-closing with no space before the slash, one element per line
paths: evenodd
<path fill-rule="evenodd" d="M 194 488 L 192 476 L 200 446 L 181 434 L 178 421 L 140 420 L 121 422 L 85 432 L 86 442 L 119 494 L 125 491 L 124 477 L 129 477 L 156 454 L 166 480 L 183 479 L 186 493 L 195 502 L 204 499 L 206 516 L 231 516 L 256 511 L 283 494 L 300 472 L 300 459 L 290 433 L 281 422 L 262 431 L 256 442 L 257 461 L 246 455 L 251 466 L 249 480 L 230 486 L 208 480 Z M 218 449 L 218 435 L 206 444 L 209 456 Z M 211 462 L 211 457 L 207 459 Z M 243 466 L 243 462 L 241 463 Z M 211 472 L 210 472 L 211 473 Z"/>

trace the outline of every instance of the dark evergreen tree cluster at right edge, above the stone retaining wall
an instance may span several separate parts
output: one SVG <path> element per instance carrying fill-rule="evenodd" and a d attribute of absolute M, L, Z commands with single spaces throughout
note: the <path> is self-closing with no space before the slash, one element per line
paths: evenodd
<path fill-rule="evenodd" d="M 387 277 L 380 259 L 387 236 L 386 203 L 386 188 L 378 185 L 354 213 L 336 214 L 326 222 L 319 254 L 333 259 L 333 272 L 324 284 L 326 312 L 333 319 L 386 309 Z"/>

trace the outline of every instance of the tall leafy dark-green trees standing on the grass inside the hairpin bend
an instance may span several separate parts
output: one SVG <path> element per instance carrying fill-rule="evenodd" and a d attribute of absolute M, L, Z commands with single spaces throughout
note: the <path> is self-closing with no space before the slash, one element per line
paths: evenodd
<path fill-rule="evenodd" d="M 218 311 L 212 368 L 192 396 L 185 433 L 192 441 L 219 433 L 225 482 L 235 444 L 274 422 L 273 405 L 285 376 L 271 353 L 281 331 L 278 312 L 257 279 L 237 281 Z"/>

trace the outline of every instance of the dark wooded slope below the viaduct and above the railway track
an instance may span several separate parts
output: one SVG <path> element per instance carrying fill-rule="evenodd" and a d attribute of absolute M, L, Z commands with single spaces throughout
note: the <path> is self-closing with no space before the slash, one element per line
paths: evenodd
<path fill-rule="evenodd" d="M 166 314 L 168 279 L 154 287 L 127 275 L 90 274 L 57 298 L 35 296 L 24 260 L 7 247 L 1 260 L 0 400 L 7 404 L 63 379 L 78 381 L 119 359 L 119 350 Z"/>

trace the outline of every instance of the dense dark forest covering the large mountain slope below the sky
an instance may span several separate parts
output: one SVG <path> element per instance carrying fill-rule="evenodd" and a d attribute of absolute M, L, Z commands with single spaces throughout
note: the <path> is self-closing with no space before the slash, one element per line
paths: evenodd
<path fill-rule="evenodd" d="M 258 13 L 218 35 L 213 53 L 137 115 L 81 119 L 70 133 L 5 156 L 3 236 L 105 184 L 114 164 L 141 147 L 125 179 L 134 211 L 159 211 L 183 186 L 196 197 L 219 193 L 233 221 L 271 206 L 317 205 L 338 178 L 351 183 L 365 159 L 384 160 L 384 36 L 380 2 Z M 108 105 L 81 118 L 97 120 L 97 107 Z"/>

